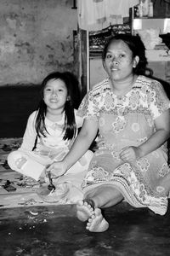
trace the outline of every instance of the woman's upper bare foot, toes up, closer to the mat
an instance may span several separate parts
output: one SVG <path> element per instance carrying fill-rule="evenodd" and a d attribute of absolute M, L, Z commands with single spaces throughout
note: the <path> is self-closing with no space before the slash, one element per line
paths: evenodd
<path fill-rule="evenodd" d="M 94 215 L 94 207 L 88 201 L 77 201 L 77 218 L 82 222 L 87 221 Z"/>

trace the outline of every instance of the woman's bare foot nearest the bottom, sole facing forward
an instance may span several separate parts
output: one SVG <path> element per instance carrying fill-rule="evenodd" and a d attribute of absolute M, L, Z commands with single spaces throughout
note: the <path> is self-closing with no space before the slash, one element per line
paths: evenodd
<path fill-rule="evenodd" d="M 88 218 L 86 229 L 91 232 L 104 232 L 108 228 L 109 224 L 103 217 L 101 210 L 96 208 L 91 218 Z"/>

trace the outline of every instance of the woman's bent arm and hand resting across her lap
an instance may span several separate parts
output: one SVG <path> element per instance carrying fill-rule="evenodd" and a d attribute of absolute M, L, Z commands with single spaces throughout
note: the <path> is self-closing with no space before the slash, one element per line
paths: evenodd
<path fill-rule="evenodd" d="M 155 119 L 156 132 L 139 147 L 128 147 L 122 150 L 120 157 L 124 161 L 133 161 L 160 148 L 170 136 L 170 110 L 167 109 Z"/>

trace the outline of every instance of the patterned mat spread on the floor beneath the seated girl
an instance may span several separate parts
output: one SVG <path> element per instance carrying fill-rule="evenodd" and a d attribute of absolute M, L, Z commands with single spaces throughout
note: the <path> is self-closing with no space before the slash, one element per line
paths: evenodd
<path fill-rule="evenodd" d="M 0 208 L 70 204 L 71 201 L 44 200 L 37 192 L 40 186 L 47 186 L 45 181 L 38 183 L 31 177 L 10 169 L 7 156 L 11 151 L 19 148 L 21 142 L 21 138 L 0 139 Z M 78 191 L 73 188 L 70 196 L 77 193 Z"/>

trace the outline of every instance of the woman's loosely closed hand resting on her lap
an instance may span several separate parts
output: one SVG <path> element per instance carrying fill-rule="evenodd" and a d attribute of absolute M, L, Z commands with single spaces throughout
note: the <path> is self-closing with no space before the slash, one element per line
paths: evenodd
<path fill-rule="evenodd" d="M 123 148 L 120 153 L 120 158 L 125 162 L 132 163 L 133 161 L 139 159 L 140 157 L 140 149 L 138 147 L 127 147 Z"/>

